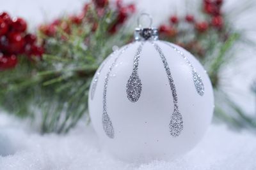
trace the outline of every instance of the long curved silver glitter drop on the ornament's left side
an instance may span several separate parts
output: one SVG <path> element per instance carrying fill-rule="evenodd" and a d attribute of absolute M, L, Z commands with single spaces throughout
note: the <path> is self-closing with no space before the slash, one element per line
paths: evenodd
<path fill-rule="evenodd" d="M 125 46 L 123 48 L 123 50 L 121 50 L 121 52 L 115 58 L 115 60 L 112 62 L 111 66 L 109 67 L 108 73 L 106 75 L 105 81 L 104 81 L 102 125 L 103 125 L 103 129 L 104 129 L 106 135 L 109 138 L 112 138 L 112 139 L 115 138 L 115 131 L 114 131 L 114 128 L 113 128 L 113 124 L 112 124 L 112 122 L 109 118 L 109 115 L 108 115 L 107 101 L 106 101 L 109 75 L 111 74 L 111 71 L 112 71 L 113 67 L 116 64 L 117 59 L 120 57 L 120 55 L 122 55 L 122 53 L 125 52 L 125 50 L 127 50 L 128 47 L 129 47 L 129 45 Z"/>

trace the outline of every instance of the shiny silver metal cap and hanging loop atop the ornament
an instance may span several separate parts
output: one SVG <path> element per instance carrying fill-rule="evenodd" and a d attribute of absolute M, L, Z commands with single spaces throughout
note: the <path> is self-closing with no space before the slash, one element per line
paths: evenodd
<path fill-rule="evenodd" d="M 141 17 L 146 16 L 149 19 L 149 27 L 141 27 L 140 19 Z M 134 30 L 134 40 L 135 41 L 145 41 L 145 40 L 157 40 L 158 39 L 158 30 L 155 27 L 152 27 L 152 17 L 148 13 L 141 13 L 137 19 L 138 27 Z"/>

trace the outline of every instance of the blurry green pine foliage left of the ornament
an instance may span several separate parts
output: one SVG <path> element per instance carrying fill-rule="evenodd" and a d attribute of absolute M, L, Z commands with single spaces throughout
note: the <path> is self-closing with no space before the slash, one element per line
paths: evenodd
<path fill-rule="evenodd" d="M 102 17 L 95 11 L 90 6 L 81 25 L 70 24 L 69 34 L 60 27 L 56 27 L 55 36 L 38 32 L 45 43 L 42 60 L 31 62 L 20 56 L 17 67 L 0 72 L 0 104 L 4 110 L 40 120 L 42 133 L 67 132 L 88 114 L 88 90 L 99 64 L 114 45 L 124 45 L 131 39 L 129 33 L 108 34 L 115 11 L 106 9 Z M 92 22 L 86 21 L 89 17 L 98 24 L 95 31 Z M 68 18 L 61 20 L 69 22 Z M 88 115 L 85 117 L 89 121 Z"/>

